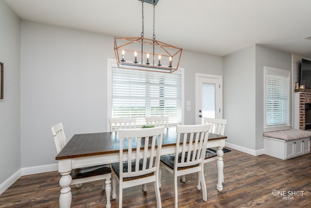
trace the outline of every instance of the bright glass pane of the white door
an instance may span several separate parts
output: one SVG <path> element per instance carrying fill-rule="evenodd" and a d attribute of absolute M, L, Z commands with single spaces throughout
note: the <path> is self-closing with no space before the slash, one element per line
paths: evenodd
<path fill-rule="evenodd" d="M 202 83 L 202 116 L 216 118 L 215 84 Z"/>

